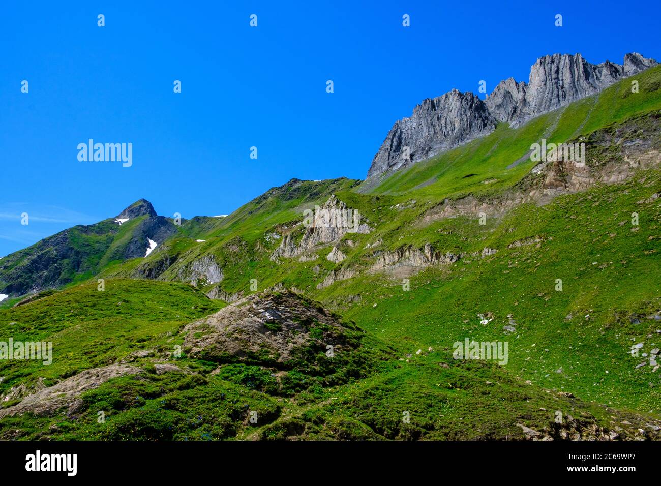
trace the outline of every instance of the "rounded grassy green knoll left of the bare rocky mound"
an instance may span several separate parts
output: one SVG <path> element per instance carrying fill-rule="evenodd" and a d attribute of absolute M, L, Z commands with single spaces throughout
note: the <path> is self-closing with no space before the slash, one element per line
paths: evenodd
<path fill-rule="evenodd" d="M 52 341 L 53 364 L 0 361 L 0 376 L 5 377 L 0 393 L 26 377 L 53 384 L 81 370 L 112 364 L 132 351 L 171 347 L 169 335 L 221 307 L 221 302 L 185 284 L 109 280 L 104 291 L 97 290 L 96 283 L 84 284 L 6 309 L 0 312 L 0 336 Z"/>

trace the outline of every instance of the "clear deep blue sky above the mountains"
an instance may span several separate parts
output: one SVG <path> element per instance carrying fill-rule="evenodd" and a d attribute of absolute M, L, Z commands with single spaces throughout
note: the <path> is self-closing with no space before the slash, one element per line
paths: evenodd
<path fill-rule="evenodd" d="M 61 5 L 7 2 L 0 16 L 0 256 L 139 198 L 215 216 L 292 177 L 364 179 L 422 99 L 527 81 L 545 54 L 661 59 L 656 1 Z M 132 143 L 132 167 L 78 161 L 90 138 Z"/>

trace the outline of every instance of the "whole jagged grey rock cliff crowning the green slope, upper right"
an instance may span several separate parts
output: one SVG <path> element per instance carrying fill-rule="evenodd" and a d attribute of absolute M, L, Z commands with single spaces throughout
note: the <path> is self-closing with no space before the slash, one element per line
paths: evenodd
<path fill-rule="evenodd" d="M 395 122 L 372 159 L 368 178 L 489 134 L 497 122 L 516 126 L 657 64 L 635 52 L 625 56 L 623 65 L 592 64 L 580 54 L 553 54 L 532 65 L 528 83 L 510 77 L 498 83 L 485 101 L 457 90 L 426 99 L 410 118 Z"/>

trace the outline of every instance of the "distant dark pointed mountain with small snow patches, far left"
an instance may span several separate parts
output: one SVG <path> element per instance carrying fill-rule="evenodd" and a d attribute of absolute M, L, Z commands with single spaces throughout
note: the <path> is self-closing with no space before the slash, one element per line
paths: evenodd
<path fill-rule="evenodd" d="M 86 280 L 110 264 L 145 257 L 177 231 L 141 199 L 114 218 L 77 225 L 0 261 L 1 293 L 10 298 Z"/>

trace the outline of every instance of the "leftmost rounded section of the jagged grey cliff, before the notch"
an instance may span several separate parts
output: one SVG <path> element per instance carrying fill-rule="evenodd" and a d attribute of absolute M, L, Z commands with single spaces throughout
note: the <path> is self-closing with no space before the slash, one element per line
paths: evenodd
<path fill-rule="evenodd" d="M 395 122 L 372 159 L 368 177 L 399 169 L 461 143 L 488 134 L 496 127 L 485 103 L 473 93 L 453 89 L 418 104 L 410 118 Z"/>

